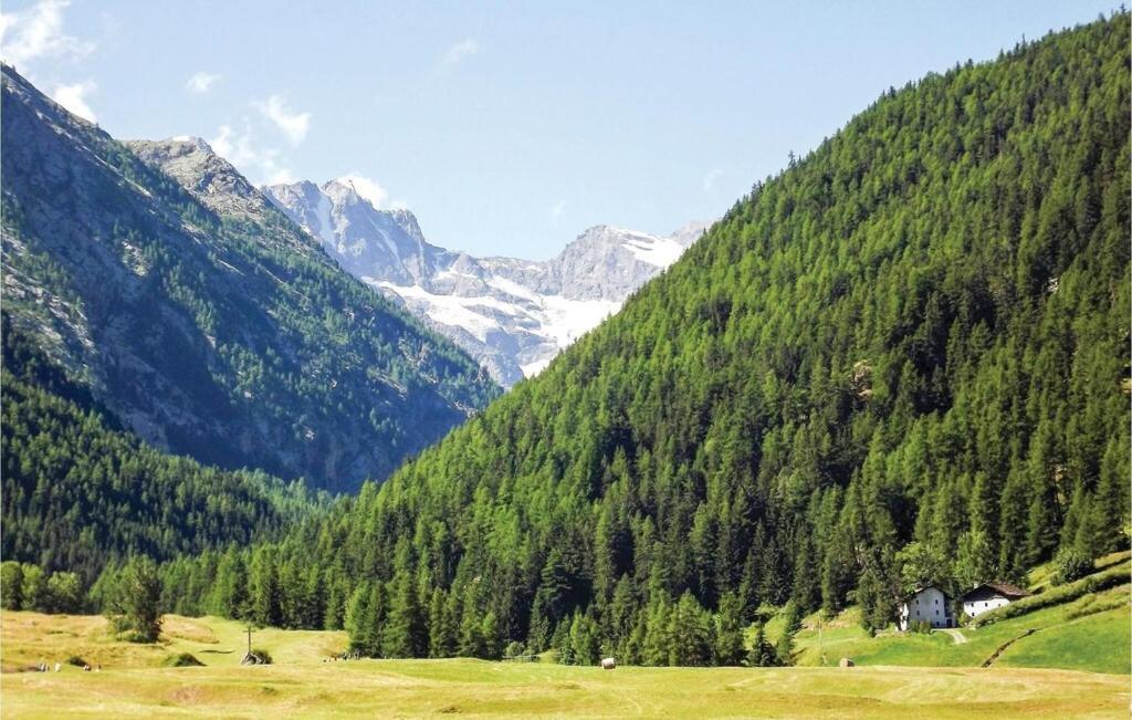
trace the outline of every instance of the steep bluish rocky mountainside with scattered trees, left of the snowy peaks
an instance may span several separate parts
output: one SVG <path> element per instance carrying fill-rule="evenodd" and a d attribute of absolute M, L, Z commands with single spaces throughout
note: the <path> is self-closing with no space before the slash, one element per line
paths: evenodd
<path fill-rule="evenodd" d="M 349 491 L 498 393 L 222 158 L 188 192 L 2 76 L 5 309 L 146 442 Z"/>

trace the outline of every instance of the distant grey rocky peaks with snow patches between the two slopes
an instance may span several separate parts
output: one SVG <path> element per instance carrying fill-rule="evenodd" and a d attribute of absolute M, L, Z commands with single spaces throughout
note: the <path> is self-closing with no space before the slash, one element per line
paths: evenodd
<path fill-rule="evenodd" d="M 586 230 L 547 262 L 477 258 L 424 240 L 406 209 L 379 209 L 350 178 L 263 188 L 338 264 L 428 320 L 505 387 L 616 312 L 706 230 Z"/>

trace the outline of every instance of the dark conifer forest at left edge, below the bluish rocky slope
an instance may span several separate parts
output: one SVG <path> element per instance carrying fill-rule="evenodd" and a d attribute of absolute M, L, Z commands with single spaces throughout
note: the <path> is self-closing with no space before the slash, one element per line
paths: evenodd
<path fill-rule="evenodd" d="M 3 315 L 5 560 L 79 573 L 277 538 L 329 503 L 263 472 L 163 455 L 118 427 Z"/>

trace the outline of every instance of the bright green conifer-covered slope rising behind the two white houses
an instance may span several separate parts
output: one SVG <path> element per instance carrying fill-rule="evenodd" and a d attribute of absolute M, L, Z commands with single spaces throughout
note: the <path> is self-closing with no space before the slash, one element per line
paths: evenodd
<path fill-rule="evenodd" d="M 543 375 L 256 549 L 254 617 L 295 623 L 271 578 L 318 566 L 350 600 L 303 602 L 365 652 L 730 662 L 761 603 L 880 626 L 907 582 L 1126 543 L 1129 102 L 1126 14 L 884 93 Z"/>

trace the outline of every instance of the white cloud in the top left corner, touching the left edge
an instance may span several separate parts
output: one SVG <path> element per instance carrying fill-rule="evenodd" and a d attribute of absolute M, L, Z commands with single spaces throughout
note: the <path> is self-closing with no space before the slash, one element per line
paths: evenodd
<path fill-rule="evenodd" d="M 0 55 L 26 71 L 41 59 L 78 60 L 95 44 L 63 32 L 63 10 L 68 0 L 42 0 L 22 12 L 0 15 Z"/>

